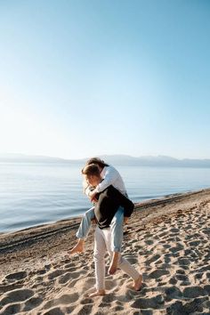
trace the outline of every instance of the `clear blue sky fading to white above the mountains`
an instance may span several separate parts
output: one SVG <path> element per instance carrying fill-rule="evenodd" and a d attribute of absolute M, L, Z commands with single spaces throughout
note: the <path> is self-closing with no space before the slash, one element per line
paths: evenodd
<path fill-rule="evenodd" d="M 210 158 L 210 1 L 0 0 L 0 151 Z"/>

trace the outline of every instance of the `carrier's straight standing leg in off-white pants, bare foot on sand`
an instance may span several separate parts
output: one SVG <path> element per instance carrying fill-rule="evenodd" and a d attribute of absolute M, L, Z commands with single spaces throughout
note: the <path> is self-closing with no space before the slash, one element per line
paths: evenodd
<path fill-rule="evenodd" d="M 95 292 L 90 297 L 97 295 L 105 295 L 105 260 L 107 247 L 103 237 L 103 230 L 97 226 L 94 237 L 94 265 L 95 265 Z"/>

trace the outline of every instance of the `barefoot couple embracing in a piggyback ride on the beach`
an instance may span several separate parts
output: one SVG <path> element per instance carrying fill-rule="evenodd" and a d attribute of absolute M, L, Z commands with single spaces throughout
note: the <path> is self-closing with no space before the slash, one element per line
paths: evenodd
<path fill-rule="evenodd" d="M 90 158 L 82 169 L 85 180 L 85 194 L 94 206 L 85 212 L 77 230 L 77 245 L 69 254 L 84 251 L 85 237 L 91 223 L 96 222 L 94 234 L 94 266 L 96 284 L 90 297 L 105 295 L 105 254 L 110 257 L 109 274 L 117 268 L 133 279 L 133 289 L 141 289 L 141 274 L 121 255 L 123 225 L 133 213 L 133 202 L 127 198 L 122 177 L 113 166 L 101 158 Z"/>

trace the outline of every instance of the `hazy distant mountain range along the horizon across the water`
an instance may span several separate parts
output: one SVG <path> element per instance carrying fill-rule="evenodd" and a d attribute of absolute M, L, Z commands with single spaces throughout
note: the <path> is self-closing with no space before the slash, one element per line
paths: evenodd
<path fill-rule="evenodd" d="M 210 159 L 178 159 L 166 156 L 136 158 L 127 155 L 101 155 L 99 158 L 115 166 L 210 167 Z M 88 158 L 64 159 L 23 154 L 0 154 L 0 162 L 2 163 L 60 163 L 84 165 L 87 159 Z"/>

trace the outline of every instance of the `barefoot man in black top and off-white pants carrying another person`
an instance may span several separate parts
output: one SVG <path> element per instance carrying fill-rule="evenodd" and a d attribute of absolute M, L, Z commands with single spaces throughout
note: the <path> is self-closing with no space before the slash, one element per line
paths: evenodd
<path fill-rule="evenodd" d="M 82 173 L 85 175 L 86 181 L 93 187 L 102 182 L 101 172 L 97 165 L 85 166 Z M 101 193 L 96 195 L 98 199 L 94 207 L 95 220 L 97 223 L 94 241 L 94 264 L 96 287 L 90 297 L 105 295 L 105 254 L 108 251 L 110 258 L 113 256 L 111 250 L 111 232 L 110 223 L 119 206 L 124 207 L 124 214 L 129 217 L 133 212 L 133 202 L 121 194 L 112 185 L 107 187 Z M 141 274 L 136 271 L 133 266 L 121 256 L 120 253 L 114 253 L 118 267 L 125 271 L 133 279 L 133 288 L 140 290 Z"/>

